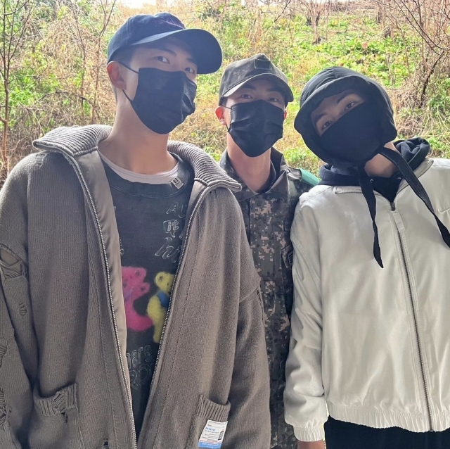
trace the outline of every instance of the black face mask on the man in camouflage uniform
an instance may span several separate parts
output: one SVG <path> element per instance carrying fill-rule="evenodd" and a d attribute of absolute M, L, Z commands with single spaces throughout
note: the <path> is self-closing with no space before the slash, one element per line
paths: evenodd
<path fill-rule="evenodd" d="M 264 100 L 236 103 L 229 109 L 228 132 L 250 158 L 261 156 L 283 137 L 283 109 Z"/>

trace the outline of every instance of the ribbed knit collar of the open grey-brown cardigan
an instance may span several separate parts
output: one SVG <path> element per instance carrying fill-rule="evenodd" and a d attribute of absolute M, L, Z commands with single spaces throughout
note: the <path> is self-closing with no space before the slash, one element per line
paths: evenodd
<path fill-rule="evenodd" d="M 41 151 L 55 151 L 77 158 L 96 151 L 99 142 L 109 136 L 111 129 L 107 125 L 60 127 L 37 139 L 33 145 Z M 195 181 L 205 186 L 222 184 L 232 191 L 240 190 L 240 184 L 226 175 L 201 148 L 184 142 L 169 141 L 167 149 L 193 167 Z"/>

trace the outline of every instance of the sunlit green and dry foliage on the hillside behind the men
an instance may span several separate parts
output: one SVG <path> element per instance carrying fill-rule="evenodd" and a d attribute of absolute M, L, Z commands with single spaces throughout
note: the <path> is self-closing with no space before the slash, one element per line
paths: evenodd
<path fill-rule="evenodd" d="M 450 71 L 444 68 L 432 75 L 425 106 L 416 110 L 414 98 L 420 89 L 414 83 L 422 77 L 418 67 L 421 42 L 407 27 L 387 29 L 376 22 L 373 11 L 356 9 L 324 15 L 314 30 L 300 11 L 276 6 L 250 8 L 240 0 L 193 0 L 187 8 L 181 1 L 165 9 L 179 15 L 189 27 L 212 32 L 221 43 L 223 67 L 265 53 L 285 72 L 295 101 L 288 105 L 284 137 L 276 147 L 284 151 L 291 165 L 314 173 L 319 169 L 320 161 L 304 146 L 293 121 L 304 83 L 331 65 L 344 65 L 382 83 L 392 94 L 400 133 L 425 134 L 436 154 L 448 155 L 450 77 L 445 73 Z M 101 34 L 104 11 L 98 0 L 46 0 L 39 4 L 33 17 L 36 38 L 30 39 L 16 58 L 10 85 L 15 141 L 27 136 L 23 141 L 29 151 L 30 141 L 51 127 L 83 125 L 91 115 L 96 122 L 112 123 L 115 107 L 105 74 L 106 47 L 128 15 L 154 12 L 148 5 L 142 11 L 117 5 L 112 22 Z M 96 70 L 101 73 L 97 91 Z M 172 136 L 198 144 L 216 160 L 226 146 L 226 130 L 214 115 L 221 73 L 198 77 L 197 111 Z M 0 103 L 3 100 L 0 91 Z M 18 151 L 26 153 L 23 148 Z"/>

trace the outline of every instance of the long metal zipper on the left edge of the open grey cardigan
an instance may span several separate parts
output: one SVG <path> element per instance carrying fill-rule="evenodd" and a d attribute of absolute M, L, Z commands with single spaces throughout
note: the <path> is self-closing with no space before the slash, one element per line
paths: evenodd
<path fill-rule="evenodd" d="M 103 239 L 103 232 L 101 230 L 100 220 L 98 220 L 98 214 L 97 214 L 97 210 L 96 210 L 96 207 L 94 204 L 94 200 L 92 199 L 91 192 L 89 191 L 89 188 L 86 184 L 86 180 L 84 179 L 82 170 L 79 167 L 77 160 L 75 160 L 75 158 L 72 158 L 72 157 L 70 157 L 70 158 L 71 158 L 72 162 L 75 164 L 75 167 L 77 167 L 78 175 L 79 175 L 80 179 L 82 180 L 82 183 L 83 183 L 84 189 L 86 189 L 87 195 L 89 196 L 89 201 L 91 201 L 91 206 L 92 206 L 92 209 L 94 210 L 94 216 L 96 217 L 96 225 L 98 227 L 98 232 L 100 234 L 101 246 L 102 246 L 102 250 L 103 250 L 103 258 L 105 259 L 106 280 L 108 283 L 108 296 L 109 296 L 109 300 L 110 300 L 111 312 L 113 315 L 115 339 L 116 339 L 116 343 L 117 343 L 117 348 L 119 350 L 120 367 L 122 369 L 122 376 L 124 377 L 124 384 L 126 387 L 125 389 L 127 390 L 128 407 L 129 407 L 129 412 L 131 414 L 131 428 L 133 430 L 133 448 L 136 449 L 137 448 L 136 426 L 134 426 L 133 407 L 131 406 L 131 393 L 130 393 L 129 387 L 127 385 L 127 377 L 125 375 L 125 367 L 124 367 L 124 362 L 122 360 L 122 350 L 120 348 L 120 341 L 119 341 L 119 336 L 118 336 L 118 331 L 117 331 L 117 320 L 116 320 L 115 312 L 114 312 L 113 291 L 111 290 L 110 267 L 109 267 L 109 263 L 108 263 L 108 257 L 106 255 L 105 239 Z"/>

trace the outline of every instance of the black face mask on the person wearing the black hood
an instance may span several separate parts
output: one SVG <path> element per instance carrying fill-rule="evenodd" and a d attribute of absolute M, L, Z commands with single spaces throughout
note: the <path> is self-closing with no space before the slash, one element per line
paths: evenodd
<path fill-rule="evenodd" d="M 349 167 L 364 165 L 387 143 L 380 140 L 382 132 L 377 115 L 377 108 L 371 102 L 350 110 L 319 137 L 321 148 L 333 158 L 347 161 Z"/>

